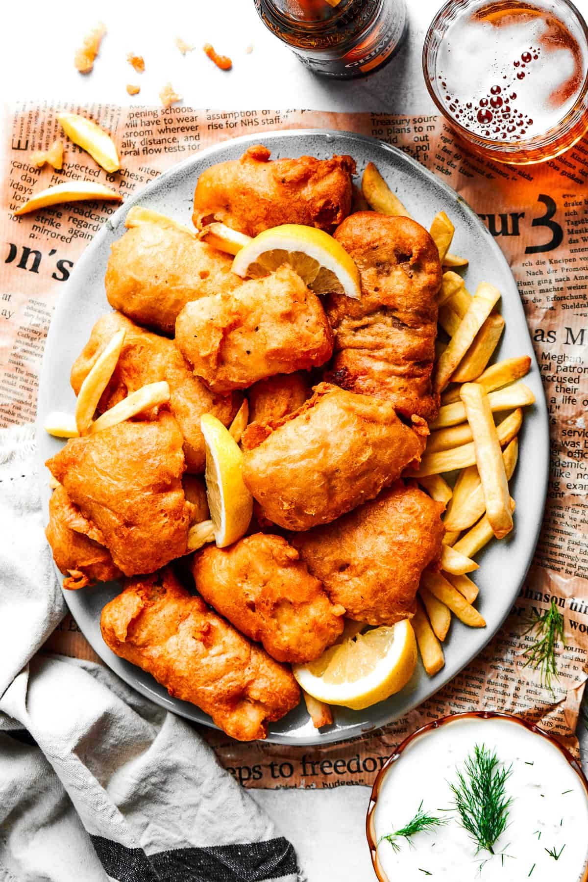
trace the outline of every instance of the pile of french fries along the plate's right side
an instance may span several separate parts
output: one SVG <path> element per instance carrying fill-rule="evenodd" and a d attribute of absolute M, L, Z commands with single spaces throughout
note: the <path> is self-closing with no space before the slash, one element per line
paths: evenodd
<path fill-rule="evenodd" d="M 410 217 L 373 163 L 368 163 L 361 191 L 374 211 Z M 472 296 L 454 272 L 467 265 L 450 254 L 454 227 L 444 212 L 429 230 L 445 272 L 439 295 L 439 325 L 449 337 L 439 343 L 433 375 L 441 407 L 430 425 L 421 465 L 412 476 L 429 496 L 445 506 L 445 535 L 439 572 L 424 572 L 413 628 L 423 666 L 433 676 L 445 663 L 443 640 L 451 613 L 473 628 L 486 625 L 473 606 L 478 587 L 467 575 L 479 568 L 473 557 L 491 539 L 503 539 L 513 528 L 514 499 L 509 481 L 517 465 L 517 434 L 523 407 L 535 398 L 517 382 L 531 367 L 528 355 L 488 367 L 504 329 L 495 311 L 500 291 L 481 282 Z M 495 413 L 510 413 L 495 424 Z M 445 473 L 458 476 L 451 489 Z"/>

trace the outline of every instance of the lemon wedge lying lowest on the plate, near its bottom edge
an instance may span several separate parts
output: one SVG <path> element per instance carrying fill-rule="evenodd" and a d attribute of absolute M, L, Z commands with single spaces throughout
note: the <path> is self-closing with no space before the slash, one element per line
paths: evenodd
<path fill-rule="evenodd" d="M 316 662 L 292 666 L 313 698 L 359 711 L 400 691 L 413 676 L 417 648 L 408 619 L 342 636 Z"/>

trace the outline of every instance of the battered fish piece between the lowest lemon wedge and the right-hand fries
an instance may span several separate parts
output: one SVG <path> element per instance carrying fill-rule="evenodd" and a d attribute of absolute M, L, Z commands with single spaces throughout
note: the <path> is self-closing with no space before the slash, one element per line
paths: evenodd
<path fill-rule="evenodd" d="M 421 573 L 441 554 L 442 512 L 442 503 L 399 481 L 291 542 L 347 617 L 394 624 L 413 617 Z"/>

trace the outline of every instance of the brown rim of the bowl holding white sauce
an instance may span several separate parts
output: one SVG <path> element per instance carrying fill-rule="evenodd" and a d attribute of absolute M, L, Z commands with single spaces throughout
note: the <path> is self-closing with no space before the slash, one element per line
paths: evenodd
<path fill-rule="evenodd" d="M 434 729 L 440 729 L 442 726 L 445 726 L 447 723 L 454 722 L 456 720 L 467 720 L 467 719 L 478 719 L 478 720 L 508 720 L 510 722 L 516 722 L 520 726 L 523 726 L 528 731 L 532 732 L 534 735 L 540 735 L 543 738 L 547 738 L 547 741 L 554 744 L 555 747 L 560 751 L 562 757 L 567 759 L 569 765 L 573 768 L 574 772 L 577 774 L 578 778 L 582 786 L 584 787 L 586 793 L 586 799 L 588 800 L 588 778 L 584 775 L 582 771 L 582 767 L 578 763 L 577 759 L 572 756 L 567 748 L 563 746 L 553 735 L 550 735 L 549 732 L 546 732 L 545 729 L 540 729 L 540 726 L 537 726 L 534 722 L 530 722 L 528 720 L 523 719 L 523 717 L 515 716 L 515 714 L 503 714 L 501 711 L 467 711 L 464 714 L 449 714 L 448 716 L 439 717 L 438 720 L 433 720 L 432 722 L 428 722 L 426 725 L 421 726 L 420 729 L 415 729 L 415 731 L 406 736 L 405 740 L 398 744 L 398 747 L 394 751 L 394 753 L 389 757 L 386 762 L 383 764 L 382 768 L 376 775 L 376 781 L 374 781 L 374 785 L 372 787 L 371 796 L 369 797 L 369 806 L 368 806 L 368 814 L 366 817 L 366 835 L 368 837 L 368 848 L 369 855 L 371 856 L 372 866 L 374 868 L 374 872 L 376 873 L 376 877 L 379 879 L 379 882 L 390 882 L 390 879 L 382 876 L 377 867 L 376 860 L 376 834 L 373 829 L 373 818 L 374 811 L 376 811 L 376 803 L 377 798 L 380 794 L 380 789 L 383 785 L 384 778 L 388 773 L 390 767 L 398 762 L 400 756 L 403 751 L 405 751 L 406 747 L 409 744 L 412 744 L 415 738 L 419 738 L 421 735 L 424 735 L 426 732 L 431 732 Z M 584 875 L 578 882 L 588 882 L 588 866 L 586 866 L 584 870 Z"/>

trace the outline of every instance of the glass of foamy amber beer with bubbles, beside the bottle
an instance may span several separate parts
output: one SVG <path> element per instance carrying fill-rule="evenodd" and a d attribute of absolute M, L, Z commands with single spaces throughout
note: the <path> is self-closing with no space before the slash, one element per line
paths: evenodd
<path fill-rule="evenodd" d="M 489 159 L 543 162 L 588 130 L 588 28 L 569 0 L 450 0 L 422 64 L 443 116 Z"/>

